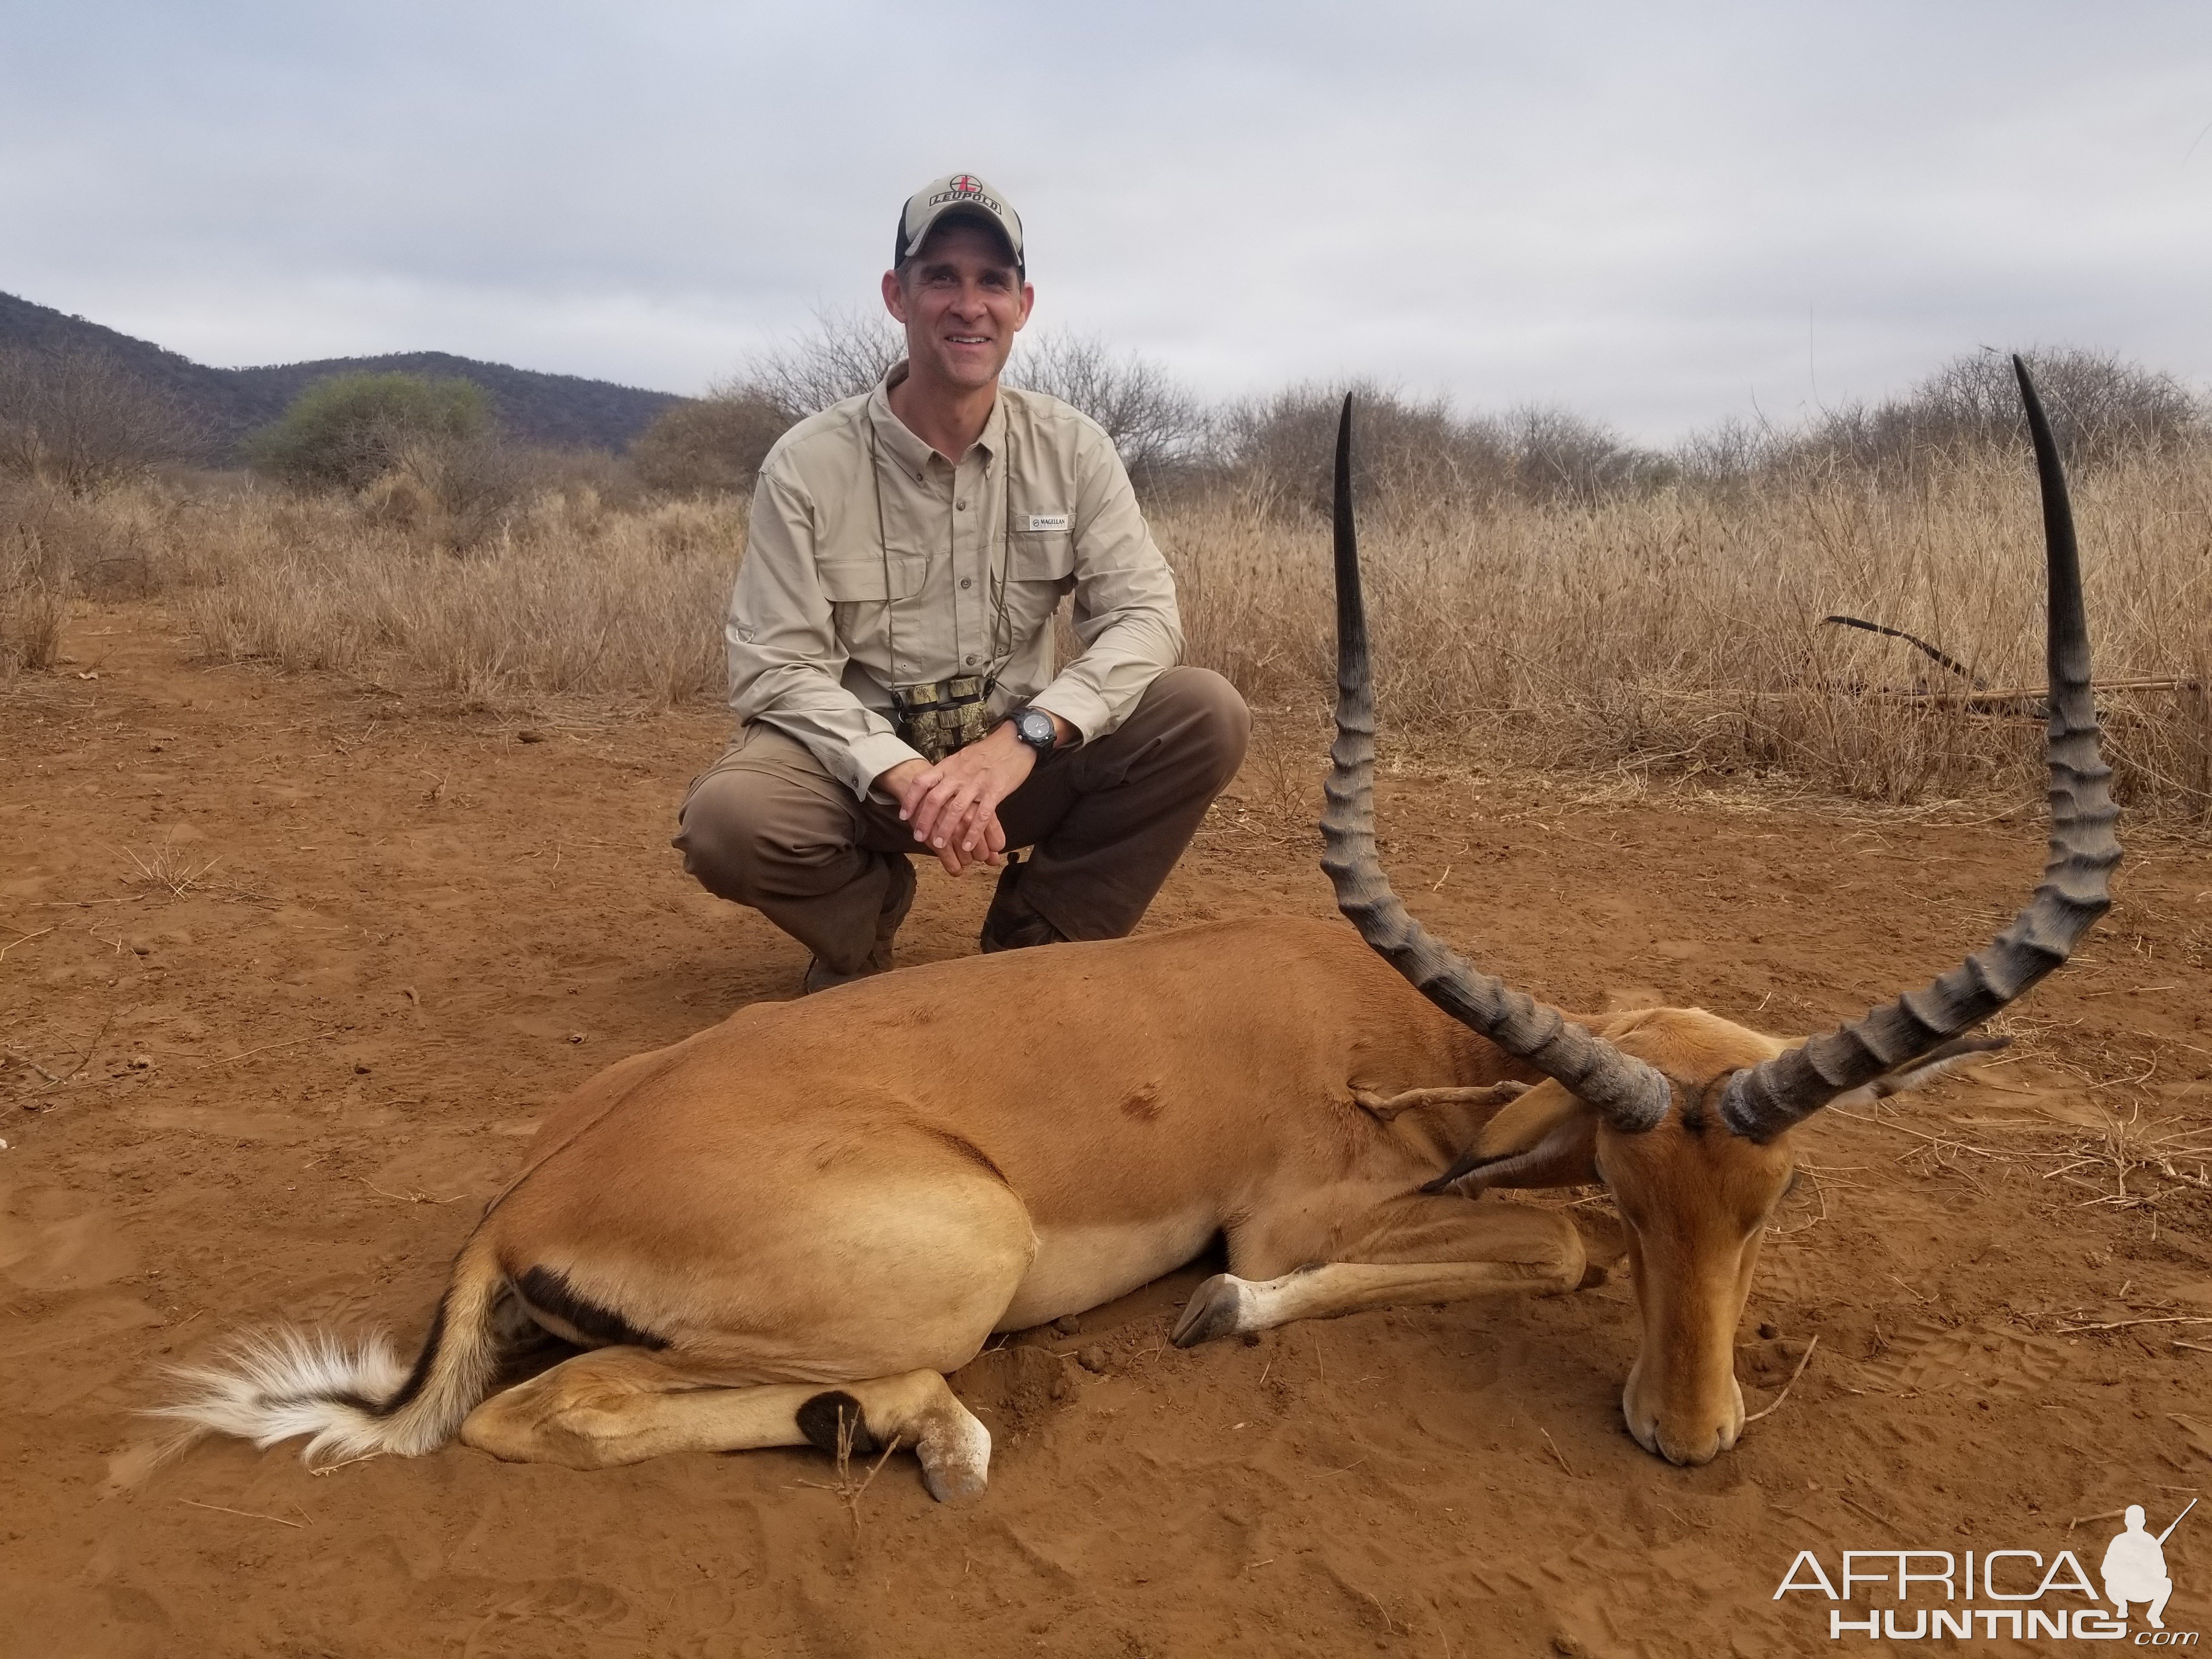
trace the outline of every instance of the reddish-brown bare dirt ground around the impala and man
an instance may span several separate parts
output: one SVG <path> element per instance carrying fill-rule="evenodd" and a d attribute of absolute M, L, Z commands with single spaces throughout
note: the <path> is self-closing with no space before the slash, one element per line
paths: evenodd
<path fill-rule="evenodd" d="M 2201 1157 L 2137 1161 L 2212 1141 L 2212 849 L 2141 830 L 2004 1064 L 1805 1130 L 1752 1407 L 1818 1347 L 1708 1469 L 1621 1429 L 1619 1279 L 1183 1354 L 1183 1272 L 956 1378 L 998 1440 L 967 1509 L 907 1458 L 847 1504 L 810 1451 L 310 1475 L 212 1442 L 150 1471 L 164 1363 L 272 1318 L 416 1343 L 535 1119 L 792 995 L 803 956 L 666 845 L 714 710 L 522 721 L 197 668 L 131 608 L 69 653 L 0 690 L 4 1655 L 1814 1652 L 1829 1604 L 1774 1599 L 1801 1548 L 2095 1571 L 2119 1522 L 2068 1522 L 2212 1491 L 2212 1192 L 2177 1179 Z M 1267 745 L 1146 927 L 1332 914 L 1316 785 Z M 1464 770 L 1383 796 L 1400 889 L 1493 969 L 1770 1031 L 2017 907 L 2039 812 L 1969 816 Z M 905 958 L 969 951 L 984 900 L 925 872 Z M 2166 1548 L 2166 1624 L 2212 1624 L 2212 1513 Z"/>

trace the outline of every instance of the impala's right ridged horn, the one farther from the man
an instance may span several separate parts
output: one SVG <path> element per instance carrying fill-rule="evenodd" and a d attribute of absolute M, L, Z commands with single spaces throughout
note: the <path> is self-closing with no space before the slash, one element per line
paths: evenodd
<path fill-rule="evenodd" d="M 2051 584 L 2051 726 L 2044 743 L 2051 768 L 2051 863 L 2044 865 L 2044 880 L 2028 907 L 1960 967 L 1803 1048 L 1730 1077 L 1721 1093 L 1721 1119 L 1747 1139 L 1774 1139 L 1836 1095 L 1871 1084 L 1982 1024 L 2057 969 L 2112 907 L 2110 876 L 2119 863 L 2112 823 L 2119 807 L 2106 787 L 2112 770 L 2097 750 L 2081 555 L 2066 502 L 2066 473 L 2042 398 L 2035 396 L 2028 365 L 2017 356 L 2013 374 L 2020 376 L 2020 400 L 2035 440 L 2035 478 L 2044 495 L 2044 564 Z"/>

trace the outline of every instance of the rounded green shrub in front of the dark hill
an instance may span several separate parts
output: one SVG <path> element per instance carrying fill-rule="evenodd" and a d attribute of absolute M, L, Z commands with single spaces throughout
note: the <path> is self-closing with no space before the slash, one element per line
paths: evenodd
<path fill-rule="evenodd" d="M 491 398 L 473 380 L 334 374 L 316 380 L 246 445 L 248 462 L 305 489 L 367 489 L 425 449 L 491 436 Z"/>

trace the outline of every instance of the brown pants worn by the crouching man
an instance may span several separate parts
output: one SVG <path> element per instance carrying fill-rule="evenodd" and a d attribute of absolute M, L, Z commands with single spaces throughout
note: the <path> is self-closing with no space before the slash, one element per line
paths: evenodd
<path fill-rule="evenodd" d="M 1009 852 L 1033 847 L 1022 905 L 1064 938 L 1121 938 L 1243 763 L 1252 714 L 1221 675 L 1170 668 L 1113 732 L 1037 763 L 998 805 Z M 856 801 L 796 739 L 759 721 L 701 772 L 675 838 L 684 869 L 750 905 L 823 967 L 876 947 L 894 858 L 922 852 L 896 805 Z"/>

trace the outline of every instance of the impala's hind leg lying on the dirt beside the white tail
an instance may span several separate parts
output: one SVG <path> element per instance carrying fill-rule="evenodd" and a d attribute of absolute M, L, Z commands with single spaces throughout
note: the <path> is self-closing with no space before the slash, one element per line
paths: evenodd
<path fill-rule="evenodd" d="M 938 1371 L 728 1387 L 641 1347 L 593 1349 L 493 1394 L 460 1438 L 507 1462 L 611 1469 L 668 1451 L 836 1451 L 841 1420 L 856 1455 L 911 1447 L 933 1498 L 973 1498 L 989 1480 L 991 1431 Z"/>

